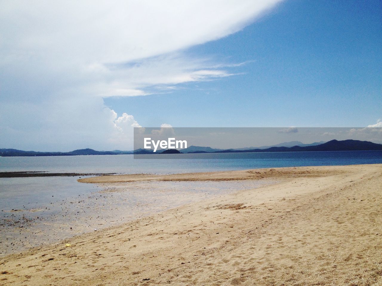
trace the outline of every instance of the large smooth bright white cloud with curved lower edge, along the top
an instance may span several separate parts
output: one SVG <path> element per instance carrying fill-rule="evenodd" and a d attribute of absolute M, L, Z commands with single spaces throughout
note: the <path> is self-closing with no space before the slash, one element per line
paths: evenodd
<path fill-rule="evenodd" d="M 220 39 L 279 0 L 2 1 L 8 60 L 118 63 Z M 18 50 L 9 52 L 10 48 Z M 59 58 L 59 59 L 58 59 Z"/>

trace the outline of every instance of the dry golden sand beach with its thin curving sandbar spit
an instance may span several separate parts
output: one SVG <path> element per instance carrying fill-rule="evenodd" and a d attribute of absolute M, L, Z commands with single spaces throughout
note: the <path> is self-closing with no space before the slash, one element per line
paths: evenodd
<path fill-rule="evenodd" d="M 381 164 L 92 180 L 260 177 L 280 183 L 8 255 L 0 285 L 382 285 Z"/>

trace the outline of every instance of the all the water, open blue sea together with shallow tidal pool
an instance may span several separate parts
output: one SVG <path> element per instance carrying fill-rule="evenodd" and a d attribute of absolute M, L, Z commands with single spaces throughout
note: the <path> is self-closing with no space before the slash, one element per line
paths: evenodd
<path fill-rule="evenodd" d="M 154 159 L 153 159 L 154 158 Z M 382 151 L 0 157 L 0 172 L 174 174 L 256 168 L 382 164 Z M 0 256 L 70 240 L 184 204 L 272 180 L 79 183 L 79 177 L 0 178 Z"/>

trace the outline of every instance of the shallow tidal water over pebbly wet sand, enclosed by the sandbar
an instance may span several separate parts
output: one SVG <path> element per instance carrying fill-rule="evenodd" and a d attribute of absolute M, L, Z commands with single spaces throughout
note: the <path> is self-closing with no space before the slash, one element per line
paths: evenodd
<path fill-rule="evenodd" d="M 37 178 L 22 178 L 29 179 Z M 38 178 L 50 181 L 49 190 L 31 185 L 31 202 L 2 202 L 0 214 L 0 255 L 23 251 L 44 243 L 100 230 L 191 202 L 238 190 L 251 190 L 272 180 L 232 182 L 139 182 L 118 186 L 77 183 L 74 178 Z M 36 181 L 36 180 L 31 180 Z M 54 188 L 57 183 L 58 188 Z M 60 185 L 60 183 L 63 183 Z M 22 185 L 22 184 L 20 184 Z M 26 188 L 23 186 L 22 189 Z M 63 192 L 68 188 L 67 193 Z M 7 206 L 9 204 L 9 207 Z M 13 207 L 18 206 L 18 207 Z"/>

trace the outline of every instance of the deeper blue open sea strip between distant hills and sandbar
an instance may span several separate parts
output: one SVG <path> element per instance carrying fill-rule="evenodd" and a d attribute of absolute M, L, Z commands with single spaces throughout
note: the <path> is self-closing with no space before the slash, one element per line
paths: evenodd
<path fill-rule="evenodd" d="M 0 172 L 183 173 L 253 168 L 382 163 L 382 151 L 269 152 L 102 156 L 0 157 Z"/>

